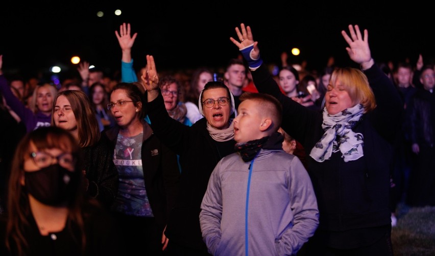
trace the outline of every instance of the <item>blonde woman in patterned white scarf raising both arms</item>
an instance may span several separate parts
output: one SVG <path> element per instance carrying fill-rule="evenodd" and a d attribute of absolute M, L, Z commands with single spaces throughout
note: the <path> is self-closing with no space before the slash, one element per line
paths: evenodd
<path fill-rule="evenodd" d="M 371 57 L 368 32 L 342 31 L 357 68 L 336 68 L 323 112 L 310 111 L 283 95 L 262 65 L 249 26 L 230 40 L 248 61 L 259 92 L 283 106 L 282 128 L 301 142 L 319 206 L 319 227 L 298 255 L 393 255 L 390 164 L 400 129 L 401 99 Z"/>

